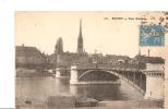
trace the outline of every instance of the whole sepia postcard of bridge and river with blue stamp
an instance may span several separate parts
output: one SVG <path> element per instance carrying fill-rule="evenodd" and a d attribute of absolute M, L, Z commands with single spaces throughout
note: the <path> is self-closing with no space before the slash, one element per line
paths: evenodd
<path fill-rule="evenodd" d="M 15 11 L 15 109 L 165 109 L 166 11 Z"/>

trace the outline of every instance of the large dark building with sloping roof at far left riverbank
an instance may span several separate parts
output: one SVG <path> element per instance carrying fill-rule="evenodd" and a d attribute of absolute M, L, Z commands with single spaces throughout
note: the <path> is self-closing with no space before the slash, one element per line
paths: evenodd
<path fill-rule="evenodd" d="M 16 68 L 43 69 L 46 63 L 45 55 L 36 47 L 15 47 L 15 65 Z"/>

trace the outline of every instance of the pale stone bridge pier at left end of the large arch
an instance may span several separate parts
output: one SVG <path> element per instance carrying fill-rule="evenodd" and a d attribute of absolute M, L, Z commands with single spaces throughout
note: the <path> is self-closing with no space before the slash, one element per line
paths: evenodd
<path fill-rule="evenodd" d="M 77 65 L 71 66 L 71 77 L 70 77 L 70 84 L 79 84 L 79 74 L 77 74 Z"/>

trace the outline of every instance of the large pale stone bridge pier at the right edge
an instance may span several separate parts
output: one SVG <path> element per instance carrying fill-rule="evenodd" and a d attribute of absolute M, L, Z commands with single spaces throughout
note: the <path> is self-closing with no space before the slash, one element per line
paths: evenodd
<path fill-rule="evenodd" d="M 164 69 L 163 64 L 147 63 L 145 99 L 164 100 Z"/>

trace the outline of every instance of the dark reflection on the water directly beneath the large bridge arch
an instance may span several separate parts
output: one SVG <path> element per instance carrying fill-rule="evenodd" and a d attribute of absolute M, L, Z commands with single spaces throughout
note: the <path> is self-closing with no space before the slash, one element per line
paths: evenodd
<path fill-rule="evenodd" d="M 71 94 L 79 97 L 95 98 L 97 100 L 121 100 L 119 85 L 71 85 Z"/>

